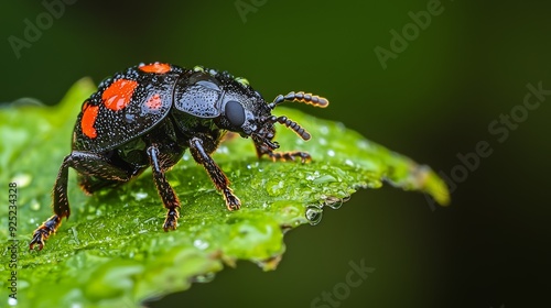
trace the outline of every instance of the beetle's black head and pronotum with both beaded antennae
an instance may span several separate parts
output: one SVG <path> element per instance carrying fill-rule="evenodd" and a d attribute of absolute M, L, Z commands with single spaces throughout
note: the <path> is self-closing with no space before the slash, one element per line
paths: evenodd
<path fill-rule="evenodd" d="M 327 99 L 302 91 L 280 95 L 268 103 L 250 87 L 247 79 L 203 67 L 195 67 L 183 82 L 185 84 L 175 90 L 177 110 L 199 118 L 214 118 L 218 128 L 239 133 L 244 138 L 250 136 L 257 146 L 266 150 L 279 147 L 277 142 L 272 142 L 276 123 L 293 130 L 303 140 L 310 139 L 310 133 L 296 122 L 284 116 L 272 116 L 277 106 L 285 101 L 322 108 L 328 105 Z"/>

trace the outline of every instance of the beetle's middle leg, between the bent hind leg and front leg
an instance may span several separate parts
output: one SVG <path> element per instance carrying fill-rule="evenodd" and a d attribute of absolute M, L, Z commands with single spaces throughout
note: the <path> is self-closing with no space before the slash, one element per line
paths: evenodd
<path fill-rule="evenodd" d="M 156 191 L 159 191 L 164 208 L 168 210 L 163 229 L 164 231 L 176 230 L 177 219 L 180 218 L 180 200 L 164 176 L 166 167 L 163 165 L 162 153 L 160 153 L 155 145 L 151 145 L 148 147 L 148 155 L 153 170 L 153 180 L 155 182 Z"/>

